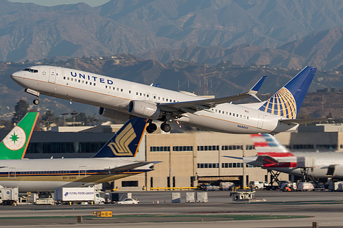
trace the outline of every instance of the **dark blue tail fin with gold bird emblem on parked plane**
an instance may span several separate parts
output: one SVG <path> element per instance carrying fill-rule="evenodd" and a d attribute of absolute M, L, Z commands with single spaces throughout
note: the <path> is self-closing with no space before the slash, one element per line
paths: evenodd
<path fill-rule="evenodd" d="M 146 118 L 131 118 L 93 157 L 136 156 L 146 126 Z"/>

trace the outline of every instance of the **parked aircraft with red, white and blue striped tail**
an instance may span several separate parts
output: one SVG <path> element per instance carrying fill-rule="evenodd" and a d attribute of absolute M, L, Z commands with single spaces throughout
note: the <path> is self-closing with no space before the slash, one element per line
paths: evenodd
<path fill-rule="evenodd" d="M 270 134 L 251 135 L 256 156 L 243 157 L 246 164 L 302 177 L 343 178 L 343 153 L 289 152 Z"/>

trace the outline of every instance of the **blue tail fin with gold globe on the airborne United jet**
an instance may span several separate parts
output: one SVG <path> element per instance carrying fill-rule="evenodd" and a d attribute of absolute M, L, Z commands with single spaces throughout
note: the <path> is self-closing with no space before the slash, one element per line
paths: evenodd
<path fill-rule="evenodd" d="M 285 118 L 296 118 L 317 68 L 306 66 L 283 88 L 265 101 L 259 110 Z"/>

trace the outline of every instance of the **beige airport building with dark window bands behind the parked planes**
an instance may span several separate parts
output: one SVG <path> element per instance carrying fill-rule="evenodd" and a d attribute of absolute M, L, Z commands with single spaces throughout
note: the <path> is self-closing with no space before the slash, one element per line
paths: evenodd
<path fill-rule="evenodd" d="M 34 131 L 25 157 L 91 157 L 119 128 L 120 125 L 108 125 L 82 129 L 82 132 Z M 0 137 L 4 138 L 7 133 L 0 131 Z M 290 151 L 343 152 L 343 125 L 300 126 L 298 132 L 281 133 L 276 138 Z M 220 181 L 234 182 L 236 186 L 248 186 L 249 181 L 269 182 L 267 170 L 241 160 L 254 155 L 250 135 L 212 131 L 145 134 L 137 160 L 161 163 L 155 164 L 154 171 L 118 179 L 107 186 L 134 191 L 196 187 L 199 183 Z M 291 178 L 287 174 L 279 175 L 280 180 Z"/>

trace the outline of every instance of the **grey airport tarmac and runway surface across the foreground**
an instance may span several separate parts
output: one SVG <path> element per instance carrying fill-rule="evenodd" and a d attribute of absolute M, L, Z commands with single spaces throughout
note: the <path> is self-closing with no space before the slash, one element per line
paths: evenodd
<path fill-rule="evenodd" d="M 185 203 L 186 192 L 181 203 L 171 203 L 171 192 L 132 192 L 138 205 L 0 206 L 0 227 L 343 227 L 343 192 L 259 190 L 266 201 L 234 202 L 217 191 L 208 203 Z M 96 218 L 100 211 L 113 217 Z"/>

